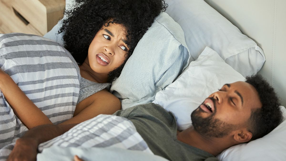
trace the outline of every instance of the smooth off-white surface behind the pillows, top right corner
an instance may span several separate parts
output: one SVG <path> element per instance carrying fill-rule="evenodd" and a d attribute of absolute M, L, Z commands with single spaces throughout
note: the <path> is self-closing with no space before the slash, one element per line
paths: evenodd
<path fill-rule="evenodd" d="M 286 1 L 205 0 L 263 49 L 266 61 L 258 72 L 275 88 L 286 106 Z"/>

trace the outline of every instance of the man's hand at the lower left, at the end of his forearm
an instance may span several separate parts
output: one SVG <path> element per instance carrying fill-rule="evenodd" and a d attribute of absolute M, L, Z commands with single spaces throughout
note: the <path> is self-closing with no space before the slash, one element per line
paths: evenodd
<path fill-rule="evenodd" d="M 15 147 L 7 161 L 34 161 L 37 159 L 37 143 L 33 139 L 20 138 L 16 141 Z"/>

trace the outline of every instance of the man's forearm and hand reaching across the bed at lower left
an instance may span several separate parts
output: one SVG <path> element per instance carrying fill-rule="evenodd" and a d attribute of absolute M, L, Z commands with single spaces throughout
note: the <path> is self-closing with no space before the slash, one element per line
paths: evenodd
<path fill-rule="evenodd" d="M 40 125 L 27 131 L 16 141 L 8 161 L 36 160 L 38 145 L 65 133 L 77 124 Z"/>

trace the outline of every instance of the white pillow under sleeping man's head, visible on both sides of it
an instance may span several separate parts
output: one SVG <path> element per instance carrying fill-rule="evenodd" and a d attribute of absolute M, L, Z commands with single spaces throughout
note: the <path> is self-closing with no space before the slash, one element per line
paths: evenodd
<path fill-rule="evenodd" d="M 191 126 L 190 114 L 205 98 L 225 83 L 244 80 L 214 50 L 206 47 L 198 60 L 191 62 L 176 81 L 156 94 L 153 103 L 171 111 L 178 129 L 184 130 Z M 286 117 L 286 109 L 281 109 Z M 222 161 L 285 160 L 285 133 L 286 120 L 263 138 L 228 148 L 217 158 Z"/>

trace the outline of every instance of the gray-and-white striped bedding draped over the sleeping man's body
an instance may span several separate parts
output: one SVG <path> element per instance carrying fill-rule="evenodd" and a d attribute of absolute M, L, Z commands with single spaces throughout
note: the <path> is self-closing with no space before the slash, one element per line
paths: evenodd
<path fill-rule="evenodd" d="M 9 156 L 14 145 L 15 143 L 10 144 L 0 150 L 0 161 Z M 57 138 L 40 144 L 38 150 L 41 152 L 45 148 L 54 146 L 62 148 L 111 147 L 153 154 L 131 121 L 124 117 L 103 114 L 76 125 Z"/>

